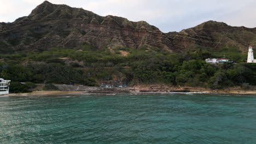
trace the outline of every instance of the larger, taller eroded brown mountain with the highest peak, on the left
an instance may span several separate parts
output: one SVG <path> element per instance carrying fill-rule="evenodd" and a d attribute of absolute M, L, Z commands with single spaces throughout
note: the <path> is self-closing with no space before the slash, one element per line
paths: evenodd
<path fill-rule="evenodd" d="M 13 23 L 0 24 L 0 51 L 43 51 L 51 47 L 78 47 L 84 42 L 97 49 L 142 45 L 170 51 L 172 41 L 147 22 L 132 22 L 123 17 L 102 17 L 80 8 L 51 4 L 38 5 L 28 16 Z"/>

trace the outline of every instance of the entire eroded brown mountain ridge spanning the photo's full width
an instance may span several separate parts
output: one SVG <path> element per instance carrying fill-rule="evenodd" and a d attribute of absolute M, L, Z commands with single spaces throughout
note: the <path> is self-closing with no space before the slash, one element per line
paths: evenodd
<path fill-rule="evenodd" d="M 139 49 L 147 45 L 170 52 L 185 52 L 195 46 L 219 49 L 235 45 L 246 51 L 248 44 L 256 45 L 255 34 L 255 28 L 231 27 L 214 21 L 178 33 L 162 33 L 145 21 L 103 17 L 45 1 L 28 16 L 12 23 L 0 23 L 0 52 L 44 51 L 52 47 L 73 49 L 83 43 L 96 49 L 119 46 Z"/>

